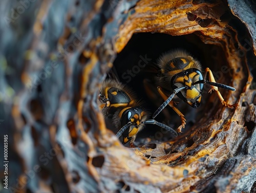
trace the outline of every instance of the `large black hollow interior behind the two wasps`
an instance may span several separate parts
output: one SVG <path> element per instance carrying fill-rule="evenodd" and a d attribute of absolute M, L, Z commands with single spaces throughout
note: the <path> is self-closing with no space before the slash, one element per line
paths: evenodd
<path fill-rule="evenodd" d="M 202 73 L 204 69 L 209 67 L 214 74 L 216 80 L 221 80 L 221 83 L 230 81 L 229 69 L 226 63 L 226 58 L 223 50 L 215 45 L 204 44 L 200 38 L 195 34 L 183 35 L 183 36 L 171 36 L 168 34 L 160 33 L 137 33 L 134 34 L 125 48 L 117 55 L 114 61 L 114 71 L 119 81 L 131 88 L 136 93 L 136 97 L 144 101 L 144 108 L 153 114 L 157 108 L 163 102 L 163 99 L 157 92 L 157 86 L 153 94 L 156 94 L 157 100 L 153 100 L 152 95 L 148 95 L 145 88 L 145 80 L 150 82 L 155 81 L 156 78 L 151 73 L 152 66 L 154 67 L 157 59 L 163 54 L 171 50 L 183 49 L 191 54 L 194 58 L 200 61 L 202 65 Z M 152 86 L 152 85 L 150 85 Z M 150 88 L 150 87 L 148 87 Z M 150 90 L 153 90 L 150 88 Z M 208 100 L 210 94 L 208 94 L 209 88 L 205 86 L 203 91 L 203 97 L 199 108 L 191 108 L 184 101 L 174 99 L 178 101 L 177 108 L 184 114 L 187 123 L 185 130 L 189 130 L 194 123 L 197 123 L 201 119 L 202 114 L 205 114 L 206 106 L 210 104 Z M 170 93 L 168 93 L 170 94 Z M 216 93 L 213 93 L 214 95 Z M 214 96 L 217 98 L 217 96 Z M 212 98 L 214 98 L 212 97 Z M 225 97 L 225 96 L 223 96 Z M 208 114 L 208 116 L 210 116 Z M 172 119 L 170 119 L 172 117 Z M 156 120 L 163 122 L 164 124 L 177 129 L 181 124 L 180 117 L 169 106 L 156 117 Z M 170 121 L 171 120 L 171 121 Z M 156 133 L 162 135 L 156 135 Z M 137 138 L 150 137 L 156 140 L 168 140 L 174 136 L 169 132 L 157 128 L 155 125 L 146 125 L 146 128 L 142 130 Z"/>

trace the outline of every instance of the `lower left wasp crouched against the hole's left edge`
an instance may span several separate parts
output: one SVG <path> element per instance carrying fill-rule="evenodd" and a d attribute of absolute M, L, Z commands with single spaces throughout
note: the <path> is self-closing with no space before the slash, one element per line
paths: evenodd
<path fill-rule="evenodd" d="M 150 112 L 143 108 L 143 102 L 136 98 L 135 93 L 126 85 L 116 80 L 105 80 L 98 97 L 100 109 L 104 117 L 112 120 L 119 129 L 116 136 L 123 144 L 134 142 L 138 132 L 145 124 L 156 124 L 177 136 L 169 126 L 150 118 Z"/>

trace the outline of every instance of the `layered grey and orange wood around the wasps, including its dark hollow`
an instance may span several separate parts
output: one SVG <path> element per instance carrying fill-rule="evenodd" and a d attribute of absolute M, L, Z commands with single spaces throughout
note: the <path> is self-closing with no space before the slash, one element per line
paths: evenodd
<path fill-rule="evenodd" d="M 10 190 L 256 191 L 253 1 L 58 3 L 30 3 L 0 23 L 0 132 L 8 135 Z M 20 6 L 1 4 L 3 18 Z M 136 147 L 123 146 L 98 107 L 102 81 L 114 72 L 154 113 L 157 103 L 143 90 L 146 68 L 128 82 L 123 74 L 141 57 L 154 62 L 176 48 L 236 88 L 220 92 L 239 108 L 226 108 L 205 88 L 200 108 L 180 104 L 187 125 L 178 137 L 150 126 Z M 159 120 L 177 128 L 179 117 L 165 111 L 172 118 Z"/>

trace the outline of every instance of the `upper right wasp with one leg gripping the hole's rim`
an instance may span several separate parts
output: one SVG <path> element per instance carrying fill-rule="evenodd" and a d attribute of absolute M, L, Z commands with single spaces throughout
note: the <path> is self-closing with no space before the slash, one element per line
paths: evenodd
<path fill-rule="evenodd" d="M 178 96 L 193 108 L 198 108 L 201 103 L 204 84 L 209 84 L 211 87 L 209 93 L 216 91 L 223 105 L 228 108 L 239 107 L 237 103 L 227 103 L 218 90 L 218 88 L 230 91 L 236 91 L 236 89 L 225 84 L 217 83 L 209 68 L 206 68 L 206 74 L 203 76 L 201 63 L 184 50 L 174 50 L 163 54 L 157 61 L 157 67 L 160 69 L 157 75 L 157 84 L 159 85 L 157 90 L 164 99 L 164 102 L 153 114 L 153 119 L 166 105 L 169 105 L 180 116 L 181 125 L 178 127 L 179 133 L 182 127 L 185 127 L 186 119 L 174 106 L 175 102 L 172 99 L 175 96 Z M 209 81 L 206 80 L 207 74 Z M 173 91 L 173 93 L 167 95 L 166 91 Z"/>

